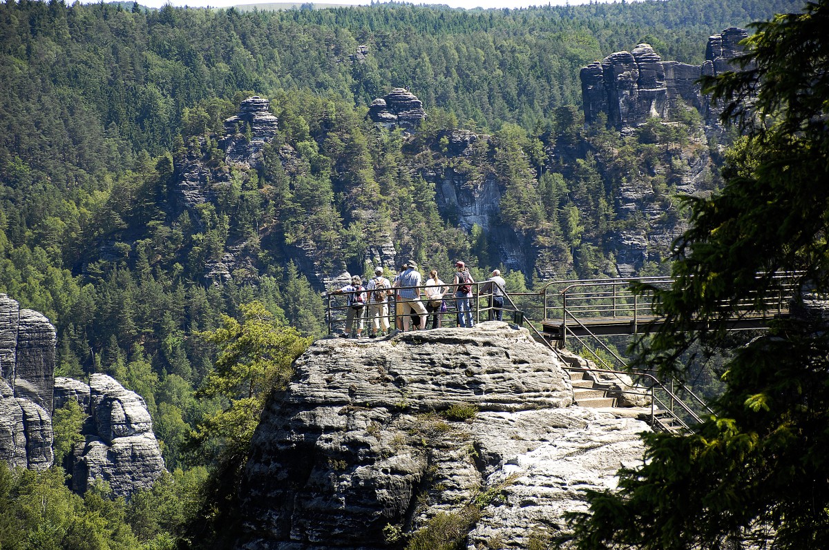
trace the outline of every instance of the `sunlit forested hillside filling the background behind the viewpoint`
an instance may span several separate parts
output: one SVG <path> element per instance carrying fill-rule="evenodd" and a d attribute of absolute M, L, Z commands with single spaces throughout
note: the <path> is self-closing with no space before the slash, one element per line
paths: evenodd
<path fill-rule="evenodd" d="M 233 398 L 205 389 L 222 315 L 241 320 L 258 301 L 269 311 L 260 316 L 321 335 L 322 280 L 366 273 L 371 245 L 441 273 L 457 259 L 478 274 L 500 266 L 516 290 L 619 265 L 664 270 L 659 258 L 623 258 L 615 235 L 678 223 L 683 177 L 704 165 L 697 191 L 715 188 L 720 149 L 695 113 L 625 137 L 584 128 L 579 69 L 642 41 L 664 60 L 699 64 L 710 34 L 800 7 L 4 2 L 0 292 L 55 324 L 60 374 L 106 372 L 143 395 L 167 468 L 192 471 L 216 453 L 193 452 L 191 431 L 201 424 L 202 449 L 218 445 L 204 421 Z M 414 133 L 366 118 L 396 87 L 428 113 Z M 240 170 L 218 140 L 251 95 L 269 99 L 279 128 L 262 165 Z M 175 189 L 188 157 L 227 182 L 194 208 Z M 439 204 L 447 178 L 473 195 L 492 182 L 497 216 L 467 224 Z M 647 187 L 658 220 L 618 210 L 630 186 Z M 244 261 L 211 277 L 228 254 Z"/>

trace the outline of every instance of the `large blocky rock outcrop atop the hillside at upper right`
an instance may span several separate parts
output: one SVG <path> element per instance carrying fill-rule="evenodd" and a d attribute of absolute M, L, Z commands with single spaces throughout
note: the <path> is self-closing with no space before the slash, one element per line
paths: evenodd
<path fill-rule="evenodd" d="M 647 44 L 591 63 L 580 73 L 584 122 L 594 123 L 605 113 L 608 125 L 633 128 L 648 118 L 667 118 L 681 100 L 701 110 L 706 124 L 718 124 L 720 109 L 710 107 L 696 80 L 734 70 L 733 60 L 742 53 L 738 42 L 746 36 L 748 32 L 737 27 L 710 36 L 703 65 L 662 61 Z"/>

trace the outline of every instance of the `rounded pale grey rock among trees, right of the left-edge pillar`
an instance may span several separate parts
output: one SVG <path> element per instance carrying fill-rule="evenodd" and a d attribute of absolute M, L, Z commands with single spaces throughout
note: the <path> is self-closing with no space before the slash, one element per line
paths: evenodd
<path fill-rule="evenodd" d="M 56 379 L 56 395 L 75 398 L 90 414 L 85 442 L 75 446 L 72 489 L 83 493 L 106 481 L 114 495 L 132 495 L 162 475 L 164 461 L 153 434 L 153 421 L 143 398 L 106 374 L 92 374 L 90 385 Z"/>

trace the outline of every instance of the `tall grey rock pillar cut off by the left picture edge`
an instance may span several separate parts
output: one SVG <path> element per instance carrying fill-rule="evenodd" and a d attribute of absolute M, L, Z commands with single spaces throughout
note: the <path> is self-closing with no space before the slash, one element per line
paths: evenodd
<path fill-rule="evenodd" d="M 0 294 L 0 460 L 51 466 L 55 327 L 37 311 Z"/>

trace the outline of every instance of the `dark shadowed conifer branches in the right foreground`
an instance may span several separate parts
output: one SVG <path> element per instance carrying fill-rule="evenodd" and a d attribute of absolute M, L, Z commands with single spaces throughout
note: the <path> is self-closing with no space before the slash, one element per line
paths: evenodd
<path fill-rule="evenodd" d="M 716 344 L 738 302 L 764 311 L 778 270 L 800 270 L 802 290 L 829 288 L 827 10 L 812 3 L 755 25 L 748 70 L 709 80 L 748 139 L 723 190 L 691 202 L 676 283 L 657 291 L 670 322 L 639 343 L 640 364 L 687 377 L 691 345 Z M 589 494 L 590 512 L 573 515 L 576 548 L 827 548 L 827 357 L 819 316 L 779 321 L 737 349 L 715 414 L 689 436 L 646 434 L 645 462 L 621 470 L 618 493 Z"/>

